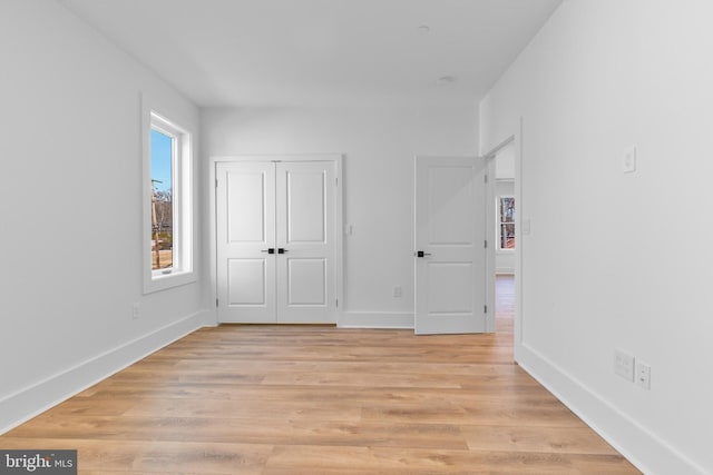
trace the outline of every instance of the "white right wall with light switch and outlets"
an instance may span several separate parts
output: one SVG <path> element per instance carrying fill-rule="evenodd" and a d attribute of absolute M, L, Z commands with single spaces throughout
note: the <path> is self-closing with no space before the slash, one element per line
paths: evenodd
<path fill-rule="evenodd" d="M 711 18 L 709 0 L 566 0 L 480 109 L 481 150 L 524 123 L 517 358 L 649 474 L 713 473 Z"/>

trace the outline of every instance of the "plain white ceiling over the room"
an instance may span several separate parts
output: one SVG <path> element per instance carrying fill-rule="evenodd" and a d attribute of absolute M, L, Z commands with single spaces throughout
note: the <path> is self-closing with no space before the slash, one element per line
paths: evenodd
<path fill-rule="evenodd" d="M 476 103 L 561 3 L 59 1 L 204 107 Z"/>

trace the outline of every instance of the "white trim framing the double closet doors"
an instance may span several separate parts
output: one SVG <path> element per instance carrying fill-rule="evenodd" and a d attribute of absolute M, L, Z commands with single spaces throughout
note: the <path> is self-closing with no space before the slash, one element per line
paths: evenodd
<path fill-rule="evenodd" d="M 211 157 L 208 161 L 208 180 L 207 180 L 207 194 L 208 194 L 208 222 L 203 224 L 208 227 L 208 275 L 209 275 L 209 296 L 208 301 L 209 320 L 205 324 L 207 326 L 218 325 L 217 315 L 217 195 L 216 195 L 216 167 L 223 162 L 241 162 L 241 161 L 332 161 L 335 167 L 335 202 L 334 202 L 334 229 L 332 239 L 334 239 L 334 289 L 336 298 L 335 321 L 336 326 L 342 324 L 342 309 L 344 308 L 344 243 L 343 232 L 343 155 L 341 154 L 305 154 L 305 155 L 232 155 L 232 156 L 215 156 Z"/>

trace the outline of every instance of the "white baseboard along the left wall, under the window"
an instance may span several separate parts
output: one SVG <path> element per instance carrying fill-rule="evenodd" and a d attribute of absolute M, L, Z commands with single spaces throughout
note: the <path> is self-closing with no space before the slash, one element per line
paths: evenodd
<path fill-rule="evenodd" d="M 199 311 L 0 399 L 0 434 L 204 326 Z"/>

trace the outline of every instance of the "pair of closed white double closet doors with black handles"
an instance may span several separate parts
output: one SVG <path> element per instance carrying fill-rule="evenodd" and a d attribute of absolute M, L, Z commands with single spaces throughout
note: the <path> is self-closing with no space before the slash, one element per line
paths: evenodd
<path fill-rule="evenodd" d="M 335 323 L 333 161 L 216 164 L 218 321 Z"/>

